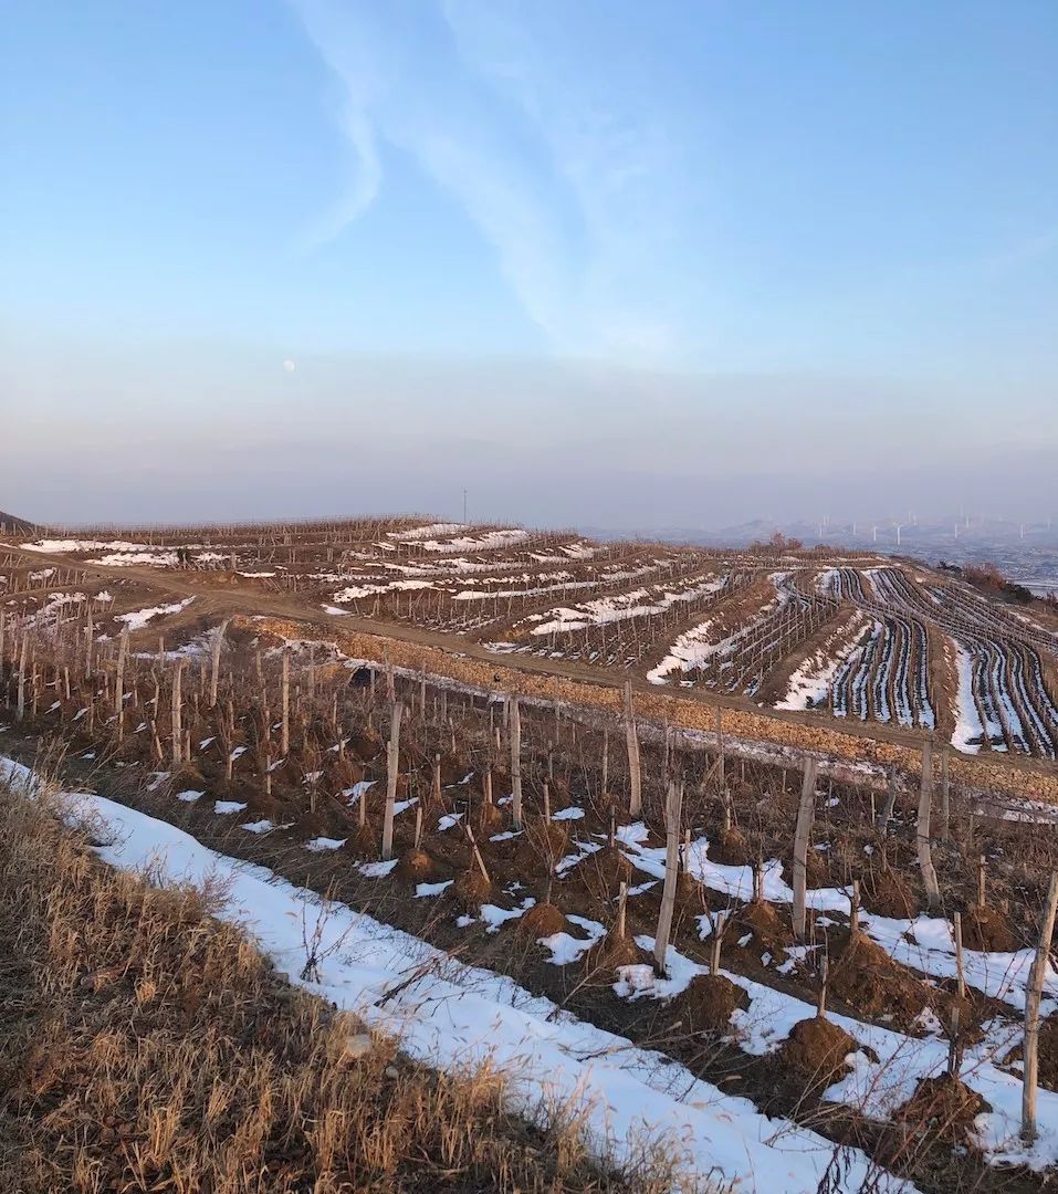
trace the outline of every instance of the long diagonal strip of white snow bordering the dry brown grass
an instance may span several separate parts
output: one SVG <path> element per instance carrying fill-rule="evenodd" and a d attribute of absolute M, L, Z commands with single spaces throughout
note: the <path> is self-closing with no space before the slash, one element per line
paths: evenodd
<path fill-rule="evenodd" d="M 27 778 L 18 764 L 0 765 L 4 771 Z M 318 933 L 321 980 L 305 984 L 309 990 L 398 1038 L 408 1055 L 433 1069 L 466 1072 L 488 1064 L 506 1076 L 513 1112 L 579 1112 L 589 1140 L 619 1163 L 634 1164 L 645 1139 L 664 1138 L 696 1173 L 722 1175 L 744 1192 L 814 1194 L 828 1173 L 836 1146 L 825 1138 L 768 1119 L 748 1100 L 577 1020 L 504 975 L 463 966 L 265 868 L 216 854 L 166 821 L 96 795 L 69 800 L 78 817 L 96 823 L 106 862 L 149 870 L 156 881 L 219 881 L 214 890 L 227 893 L 222 918 L 245 924 L 281 971 L 301 973 L 305 936 Z M 878 1176 L 859 1150 L 842 1153 L 850 1194 Z M 872 1188 L 914 1189 L 887 1174 Z"/>

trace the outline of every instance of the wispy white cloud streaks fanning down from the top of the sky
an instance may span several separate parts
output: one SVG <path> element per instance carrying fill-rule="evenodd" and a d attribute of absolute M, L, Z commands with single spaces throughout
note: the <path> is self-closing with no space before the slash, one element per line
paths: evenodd
<path fill-rule="evenodd" d="M 676 223 L 664 198 L 678 190 L 673 147 L 656 116 L 592 73 L 590 47 L 545 19 L 559 10 L 293 2 L 347 91 L 357 164 L 314 244 L 375 201 L 376 146 L 389 143 L 460 203 L 553 349 L 676 350 L 654 275 Z"/>

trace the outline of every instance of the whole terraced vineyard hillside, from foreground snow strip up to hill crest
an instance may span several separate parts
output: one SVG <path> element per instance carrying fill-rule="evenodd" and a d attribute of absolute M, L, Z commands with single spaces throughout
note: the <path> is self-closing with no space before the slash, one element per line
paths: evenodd
<path fill-rule="evenodd" d="M 746 1189 L 1053 1176 L 1045 607 L 411 518 L 0 553 L 0 755 L 91 788 L 110 856 L 217 868 L 427 1064 L 498 1042 Z"/>

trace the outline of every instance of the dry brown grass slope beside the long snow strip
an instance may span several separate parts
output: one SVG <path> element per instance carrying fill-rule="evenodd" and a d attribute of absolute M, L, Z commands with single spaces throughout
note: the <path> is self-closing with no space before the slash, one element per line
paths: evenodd
<path fill-rule="evenodd" d="M 210 901 L 104 867 L 0 792 L 0 1189 L 671 1187 L 657 1149 L 615 1174 L 576 1118 L 540 1131 L 508 1114 L 496 1075 L 437 1076 L 368 1045 Z"/>

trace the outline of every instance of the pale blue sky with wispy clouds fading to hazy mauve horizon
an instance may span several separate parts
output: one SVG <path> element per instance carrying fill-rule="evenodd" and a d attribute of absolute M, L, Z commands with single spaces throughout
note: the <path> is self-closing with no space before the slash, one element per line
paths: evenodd
<path fill-rule="evenodd" d="M 1052 0 L 14 0 L 0 507 L 1050 509 L 1056 146 Z"/>

